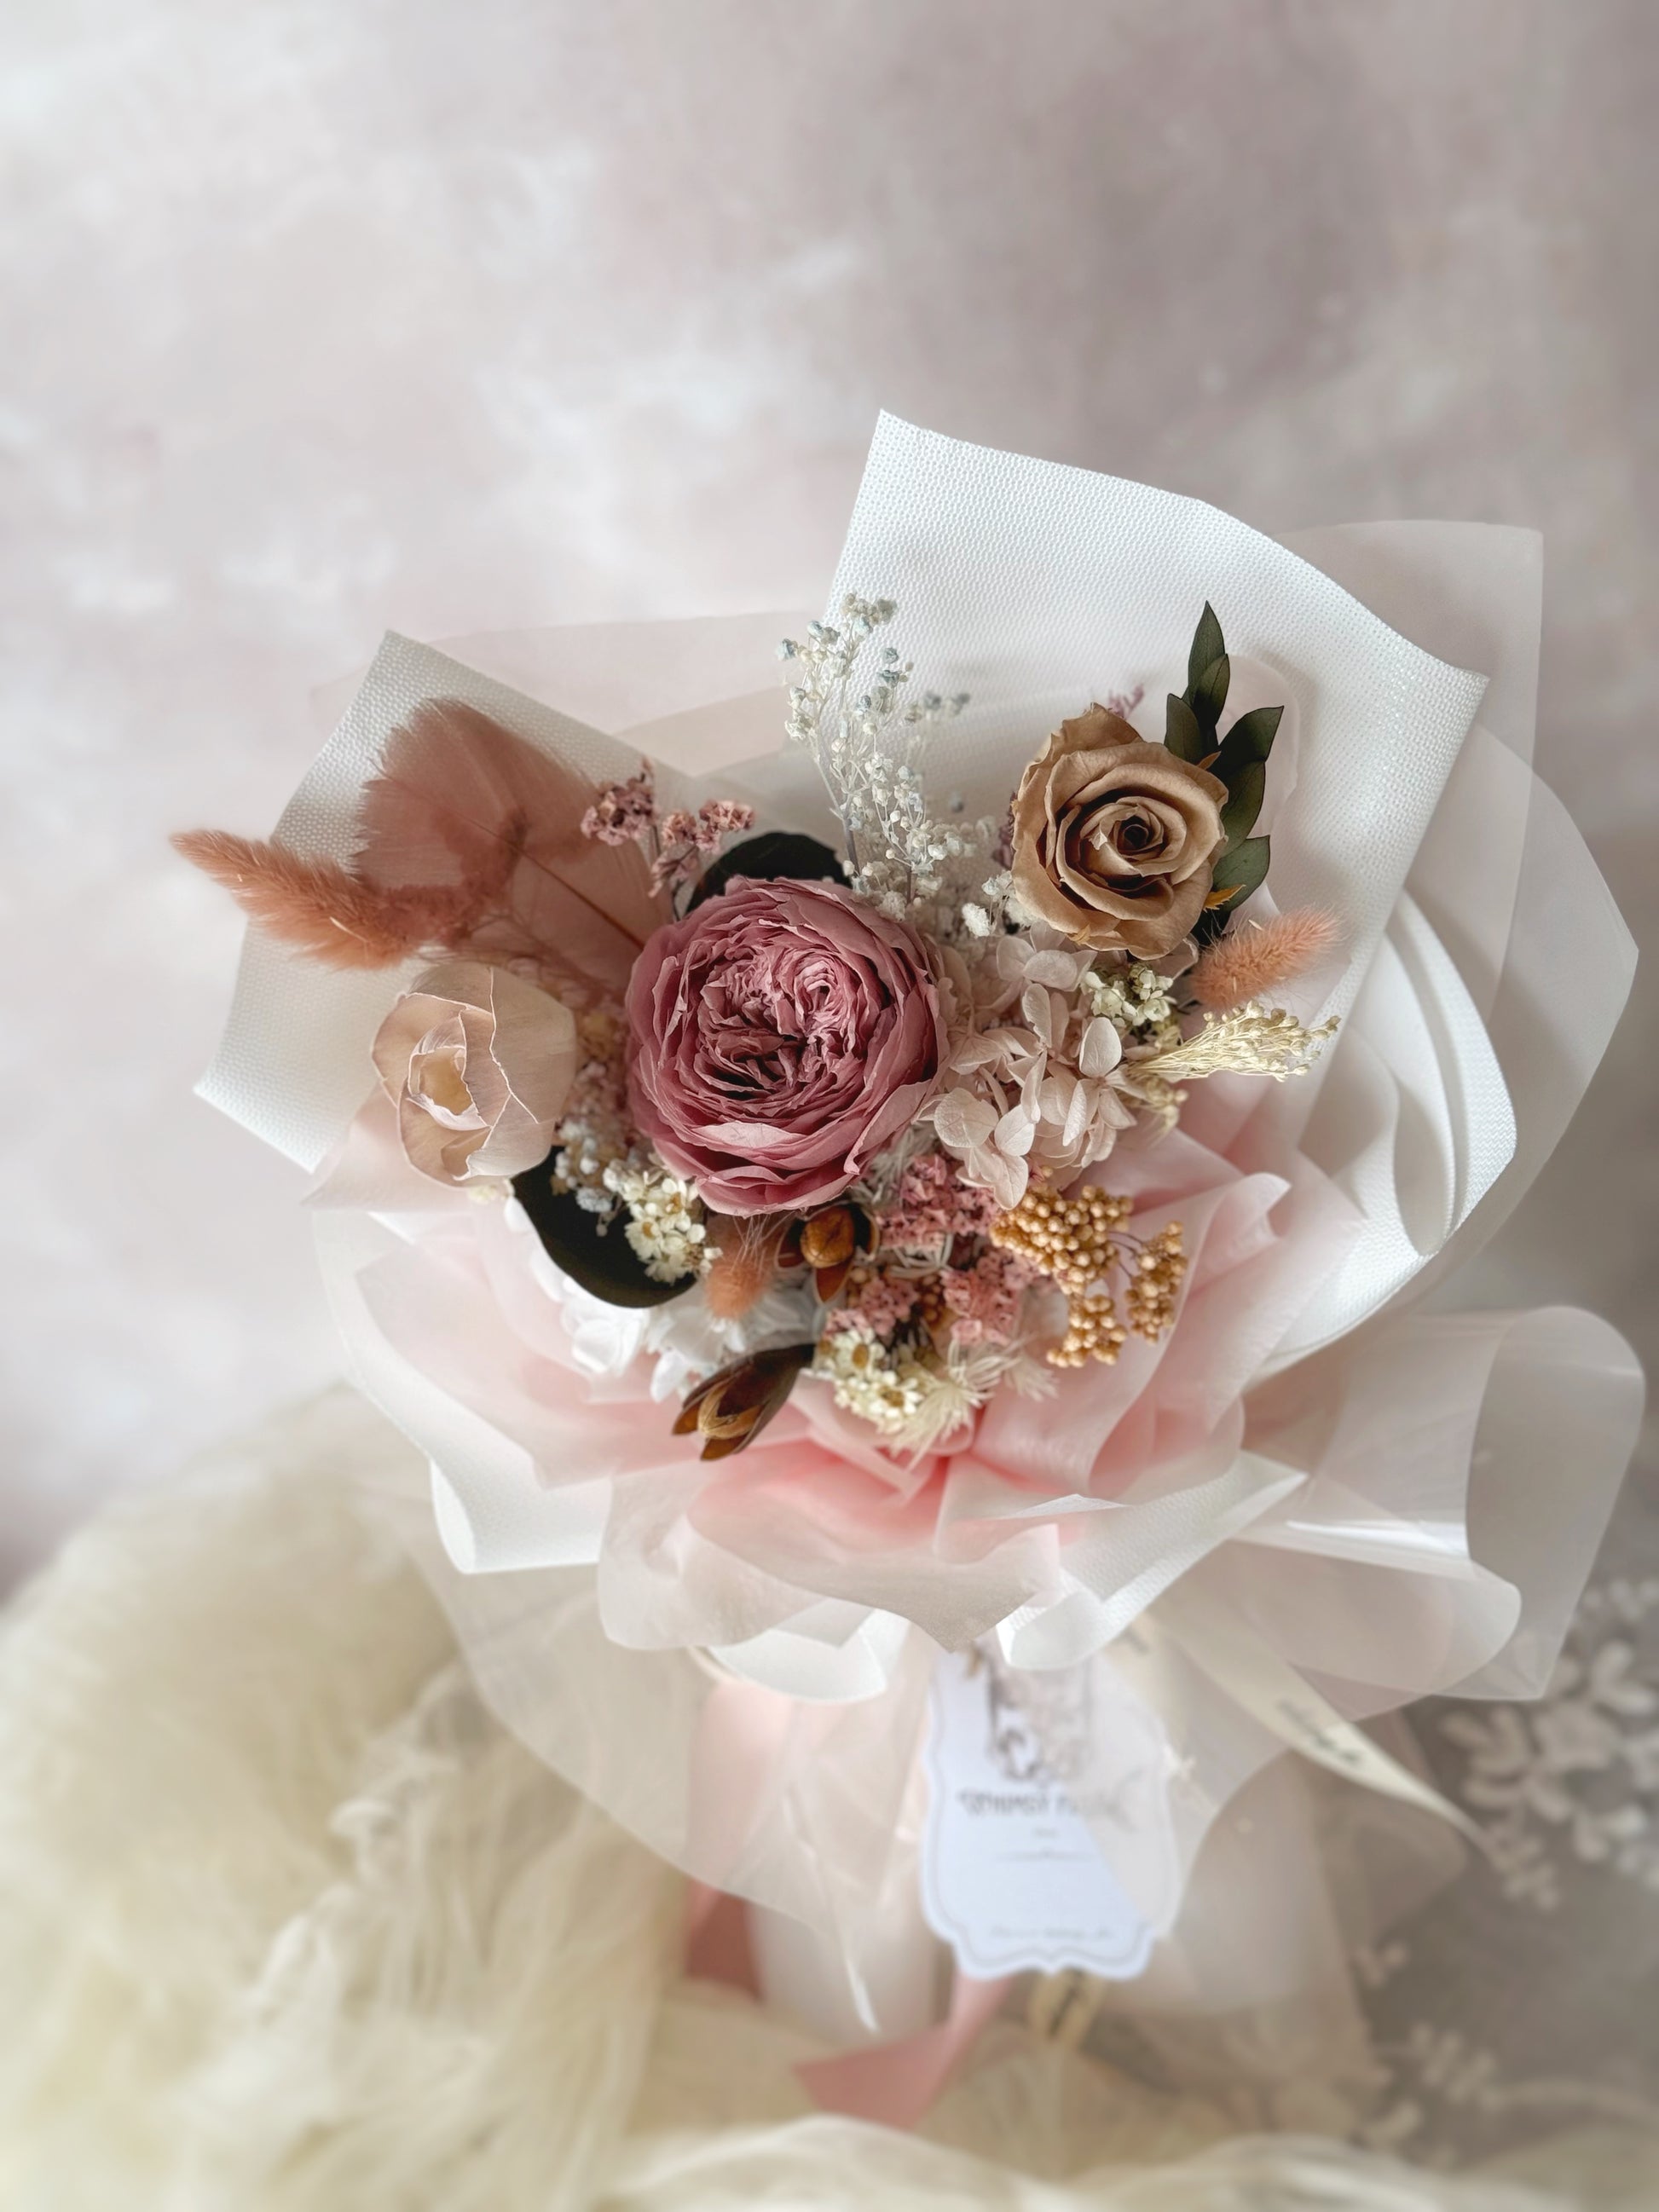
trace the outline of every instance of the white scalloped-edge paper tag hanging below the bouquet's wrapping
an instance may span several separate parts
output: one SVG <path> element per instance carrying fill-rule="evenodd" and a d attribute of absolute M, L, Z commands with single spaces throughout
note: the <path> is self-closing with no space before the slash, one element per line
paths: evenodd
<path fill-rule="evenodd" d="M 1130 1980 L 1172 1905 L 1168 1743 L 1097 1661 L 1022 1672 L 987 1650 L 933 1670 L 922 1911 L 975 1980 L 1084 1969 Z M 1159 1911 L 1159 1918 L 1166 1918 Z"/>

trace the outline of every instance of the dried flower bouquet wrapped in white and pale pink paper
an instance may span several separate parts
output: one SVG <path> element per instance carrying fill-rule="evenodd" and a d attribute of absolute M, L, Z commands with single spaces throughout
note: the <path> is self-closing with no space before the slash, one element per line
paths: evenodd
<path fill-rule="evenodd" d="M 1168 1980 L 1287 1745 L 1469 1827 L 1358 1723 L 1548 1677 L 1639 1383 L 1422 1296 L 1628 947 L 1475 538 L 885 418 L 783 688 L 748 619 L 389 639 L 270 841 L 179 838 L 484 1694 L 847 2039 L 936 1936 Z"/>

